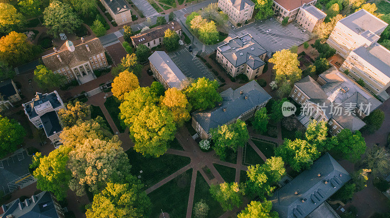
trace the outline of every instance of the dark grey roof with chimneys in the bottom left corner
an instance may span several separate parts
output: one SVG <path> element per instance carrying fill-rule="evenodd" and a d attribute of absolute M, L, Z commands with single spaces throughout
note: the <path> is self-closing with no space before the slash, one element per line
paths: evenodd
<path fill-rule="evenodd" d="M 36 201 L 33 202 L 32 198 L 35 198 Z M 8 203 L 5 205 L 7 210 L 0 215 L 1 218 L 6 218 L 10 214 L 14 215 L 15 218 L 59 218 L 49 192 L 41 192 L 29 198 L 28 201 L 29 206 L 24 204 L 25 201 L 20 202 L 19 199 Z M 19 203 L 23 205 L 22 210 L 19 208 Z"/>

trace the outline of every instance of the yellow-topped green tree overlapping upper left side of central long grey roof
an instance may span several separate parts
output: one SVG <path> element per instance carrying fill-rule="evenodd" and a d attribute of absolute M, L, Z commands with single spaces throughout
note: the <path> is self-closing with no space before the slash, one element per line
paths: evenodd
<path fill-rule="evenodd" d="M 218 82 L 207 78 L 198 78 L 192 83 L 184 94 L 195 110 L 206 110 L 215 107 L 215 103 L 221 102 L 222 98 L 216 91 Z"/>

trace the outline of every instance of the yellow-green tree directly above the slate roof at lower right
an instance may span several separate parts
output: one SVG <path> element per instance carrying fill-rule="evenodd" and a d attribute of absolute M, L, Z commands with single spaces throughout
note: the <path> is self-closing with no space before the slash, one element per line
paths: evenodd
<path fill-rule="evenodd" d="M 297 172 L 309 168 L 320 156 L 315 145 L 302 139 L 285 139 L 284 143 L 275 149 L 275 155 L 283 158 Z"/>

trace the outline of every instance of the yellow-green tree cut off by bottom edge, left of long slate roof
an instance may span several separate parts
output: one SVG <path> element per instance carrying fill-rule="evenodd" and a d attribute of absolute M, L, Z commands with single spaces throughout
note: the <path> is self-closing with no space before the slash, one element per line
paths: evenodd
<path fill-rule="evenodd" d="M 279 218 L 279 214 L 271 211 L 271 201 L 251 201 L 247 207 L 238 214 L 237 218 Z"/>

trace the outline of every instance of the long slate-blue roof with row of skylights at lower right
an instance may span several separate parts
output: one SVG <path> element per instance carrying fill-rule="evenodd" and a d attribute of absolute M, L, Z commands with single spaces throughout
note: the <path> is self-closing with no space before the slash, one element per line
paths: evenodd
<path fill-rule="evenodd" d="M 318 176 L 319 173 L 321 176 Z M 278 212 L 280 218 L 304 218 L 350 179 L 348 172 L 326 153 L 314 161 L 309 170 L 275 191 L 270 198 L 272 209 Z M 298 194 L 294 194 L 295 191 Z"/>

